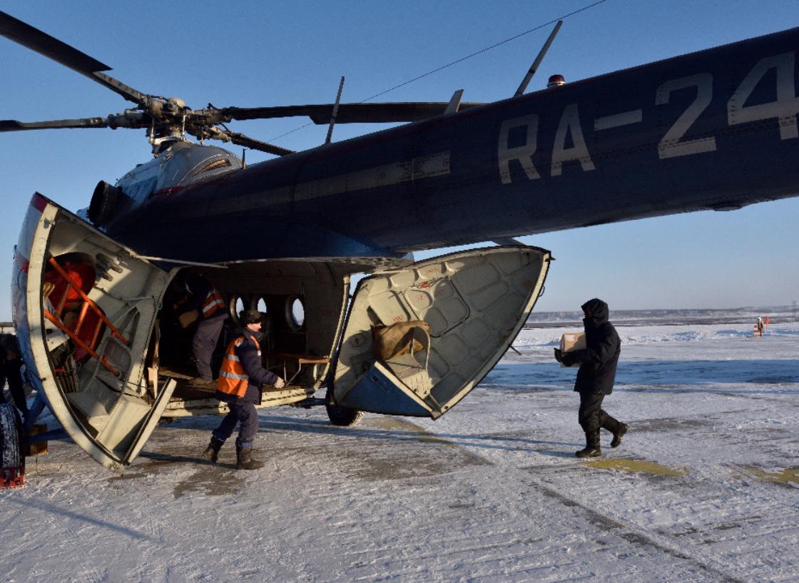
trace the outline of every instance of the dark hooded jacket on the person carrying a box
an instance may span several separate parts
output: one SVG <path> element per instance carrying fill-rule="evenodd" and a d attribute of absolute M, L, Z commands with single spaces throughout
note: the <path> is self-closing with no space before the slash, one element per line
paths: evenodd
<path fill-rule="evenodd" d="M 592 317 L 583 318 L 586 329 L 586 348 L 563 354 L 563 364 L 580 363 L 574 390 L 578 393 L 613 392 L 618 355 L 622 352 L 622 341 L 613 324 L 608 321 L 607 304 L 602 300 L 586 301 L 582 309 L 589 309 Z"/>

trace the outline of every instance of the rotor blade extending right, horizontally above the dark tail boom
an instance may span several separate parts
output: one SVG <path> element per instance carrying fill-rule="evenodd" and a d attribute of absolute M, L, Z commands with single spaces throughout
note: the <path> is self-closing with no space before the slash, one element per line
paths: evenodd
<path fill-rule="evenodd" d="M 448 102 L 341 103 L 336 123 L 420 122 L 435 118 L 447 110 Z M 459 111 L 482 106 L 483 103 L 461 103 Z M 291 118 L 307 115 L 316 124 L 330 122 L 333 104 L 276 107 L 225 107 L 211 110 L 222 119 Z"/>

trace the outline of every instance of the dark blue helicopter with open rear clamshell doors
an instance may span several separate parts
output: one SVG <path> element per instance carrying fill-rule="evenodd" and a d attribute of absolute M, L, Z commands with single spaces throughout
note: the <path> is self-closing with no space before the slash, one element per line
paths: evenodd
<path fill-rule="evenodd" d="M 732 210 L 799 184 L 799 29 L 529 94 L 523 82 L 487 104 L 456 91 L 449 102 L 199 110 L 134 90 L 5 13 L 0 34 L 133 104 L 0 131 L 143 129 L 153 148 L 78 214 L 34 194 L 14 252 L 14 326 L 39 405 L 118 472 L 158 421 L 227 410 L 185 382 L 169 301 L 181 271 L 211 278 L 233 322 L 239 307 L 266 313 L 264 363 L 288 384 L 260 406 L 324 405 L 336 425 L 364 411 L 435 419 L 499 361 L 543 291 L 551 252 L 515 237 Z M 295 116 L 406 123 L 300 152 L 225 126 Z M 276 158 L 246 165 L 206 140 Z M 412 257 L 486 241 L 498 245 Z M 392 326 L 407 330 L 406 349 L 376 354 L 376 330 Z"/>

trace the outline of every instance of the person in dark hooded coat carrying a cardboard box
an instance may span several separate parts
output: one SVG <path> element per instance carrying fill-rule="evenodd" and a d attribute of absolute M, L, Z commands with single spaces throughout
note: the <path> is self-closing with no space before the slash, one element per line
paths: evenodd
<path fill-rule="evenodd" d="M 586 348 L 562 353 L 555 349 L 555 359 L 566 366 L 580 364 L 574 390 L 580 393 L 578 422 L 586 433 L 586 447 L 577 457 L 599 457 L 599 429 L 613 433 L 610 447 L 622 444 L 627 425 L 610 417 L 602 410 L 602 399 L 613 392 L 618 355 L 622 352 L 622 341 L 613 324 L 608 321 L 608 306 L 599 299 L 586 301 L 582 305 L 585 317 L 582 323 L 586 330 Z"/>

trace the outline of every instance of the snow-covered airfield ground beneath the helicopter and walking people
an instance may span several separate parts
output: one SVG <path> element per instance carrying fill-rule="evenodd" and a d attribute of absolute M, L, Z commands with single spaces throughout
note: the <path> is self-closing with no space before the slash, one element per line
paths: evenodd
<path fill-rule="evenodd" d="M 574 326 L 523 330 L 439 421 L 263 410 L 256 472 L 232 444 L 197 460 L 214 417 L 161 425 L 122 477 L 50 442 L 26 488 L 0 491 L 0 575 L 797 581 L 799 324 L 778 319 L 762 338 L 750 317 L 619 326 L 605 408 L 630 432 L 618 449 L 604 434 L 600 460 L 574 457 L 576 369 L 552 359 Z"/>

